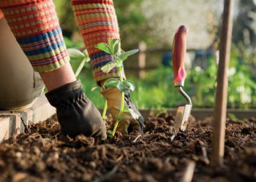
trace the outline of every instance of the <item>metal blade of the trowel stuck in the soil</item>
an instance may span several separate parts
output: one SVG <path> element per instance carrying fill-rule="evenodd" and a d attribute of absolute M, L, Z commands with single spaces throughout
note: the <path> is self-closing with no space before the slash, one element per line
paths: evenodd
<path fill-rule="evenodd" d="M 192 109 L 192 105 L 190 104 L 178 107 L 176 118 L 175 118 L 175 128 L 177 132 L 179 129 L 181 129 L 182 131 L 186 130 L 191 109 Z"/>

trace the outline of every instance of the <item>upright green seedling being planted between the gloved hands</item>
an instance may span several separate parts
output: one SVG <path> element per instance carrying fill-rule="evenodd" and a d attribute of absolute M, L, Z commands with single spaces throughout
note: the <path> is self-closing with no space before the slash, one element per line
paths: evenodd
<path fill-rule="evenodd" d="M 108 44 L 102 42 L 96 45 L 96 48 L 99 50 L 102 50 L 104 52 L 107 52 L 108 54 L 112 55 L 114 60 L 107 63 L 105 66 L 102 67 L 102 71 L 105 74 L 108 74 L 113 68 L 117 68 L 119 78 L 110 78 L 105 81 L 103 84 L 103 87 L 106 88 L 113 88 L 116 87 L 121 92 L 121 105 L 118 108 L 119 113 L 116 114 L 116 123 L 114 125 L 113 131 L 111 132 L 111 137 L 113 138 L 116 133 L 116 128 L 118 127 L 118 123 L 121 122 L 121 119 L 123 118 L 124 112 L 129 112 L 132 117 L 135 119 L 138 119 L 138 114 L 136 114 L 131 108 L 128 106 L 125 106 L 124 104 L 124 92 L 126 91 L 133 91 L 135 90 L 135 84 L 131 80 L 125 80 L 124 79 L 124 60 L 127 60 L 127 58 L 131 55 L 134 55 L 138 50 L 130 50 L 130 51 L 121 51 L 120 49 L 120 41 L 119 39 L 109 39 Z"/>

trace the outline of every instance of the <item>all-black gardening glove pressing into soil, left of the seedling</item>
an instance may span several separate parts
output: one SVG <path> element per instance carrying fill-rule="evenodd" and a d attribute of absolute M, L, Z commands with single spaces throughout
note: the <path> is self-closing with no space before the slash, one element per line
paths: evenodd
<path fill-rule="evenodd" d="M 86 98 L 80 81 L 65 84 L 45 94 L 50 105 L 56 107 L 61 132 L 75 137 L 86 136 L 107 138 L 106 126 L 97 108 Z"/>

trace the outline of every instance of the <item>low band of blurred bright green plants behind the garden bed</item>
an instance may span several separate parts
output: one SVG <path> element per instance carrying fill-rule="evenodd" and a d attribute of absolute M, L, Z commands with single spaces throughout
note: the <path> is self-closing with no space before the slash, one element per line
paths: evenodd
<path fill-rule="evenodd" d="M 230 68 L 228 71 L 228 107 L 251 108 L 256 106 L 256 82 L 253 81 L 252 68 L 241 64 L 238 49 L 233 47 Z M 99 92 L 91 92 L 94 86 L 91 70 L 85 69 L 79 78 L 82 80 L 86 95 L 98 108 L 103 108 L 104 98 Z M 129 78 L 130 79 L 130 78 Z M 186 100 L 173 87 L 173 71 L 160 66 L 148 71 L 145 79 L 135 79 L 136 90 L 132 92 L 132 100 L 140 108 L 170 108 L 181 106 Z M 195 66 L 187 71 L 184 90 L 191 96 L 194 107 L 213 107 L 214 93 L 217 86 L 217 62 L 208 58 L 206 68 Z"/>

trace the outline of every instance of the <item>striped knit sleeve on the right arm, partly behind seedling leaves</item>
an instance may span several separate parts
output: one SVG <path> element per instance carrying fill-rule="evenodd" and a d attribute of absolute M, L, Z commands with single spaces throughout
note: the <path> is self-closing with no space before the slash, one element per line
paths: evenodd
<path fill-rule="evenodd" d="M 109 38 L 120 39 L 113 1 L 72 0 L 72 7 L 91 58 L 94 79 L 99 82 L 110 77 L 118 77 L 116 68 L 108 74 L 102 72 L 102 66 L 113 60 L 113 57 L 95 48 L 99 42 L 107 43 Z"/>

